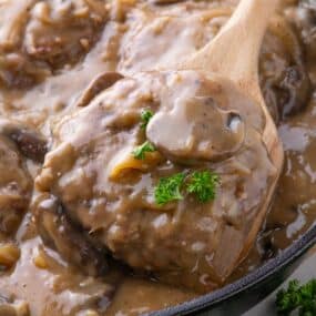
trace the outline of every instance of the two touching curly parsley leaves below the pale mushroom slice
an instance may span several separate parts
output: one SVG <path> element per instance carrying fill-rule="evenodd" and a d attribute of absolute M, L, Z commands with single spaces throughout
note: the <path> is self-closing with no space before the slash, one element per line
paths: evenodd
<path fill-rule="evenodd" d="M 216 187 L 220 183 L 220 176 L 210 171 L 195 171 L 185 185 L 185 175 L 176 173 L 174 175 L 162 177 L 154 190 L 154 197 L 157 205 L 164 205 L 169 202 L 183 200 L 182 192 L 192 193 L 201 203 L 206 203 L 215 198 Z"/>

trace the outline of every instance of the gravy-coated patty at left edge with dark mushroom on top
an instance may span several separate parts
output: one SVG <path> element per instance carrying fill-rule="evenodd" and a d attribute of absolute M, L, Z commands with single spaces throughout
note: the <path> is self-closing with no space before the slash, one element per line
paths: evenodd
<path fill-rule="evenodd" d="M 44 139 L 31 129 L 10 120 L 0 120 L 0 232 L 11 235 L 28 210 L 32 179 L 26 160 L 43 161 Z"/>

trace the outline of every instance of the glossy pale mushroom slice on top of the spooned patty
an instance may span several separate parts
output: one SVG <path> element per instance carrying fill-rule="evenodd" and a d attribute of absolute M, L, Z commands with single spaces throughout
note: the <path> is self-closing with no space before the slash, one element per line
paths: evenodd
<path fill-rule="evenodd" d="M 154 115 L 146 135 L 171 160 L 214 162 L 241 149 L 245 123 L 237 112 L 218 108 L 212 96 L 197 96 Z"/>

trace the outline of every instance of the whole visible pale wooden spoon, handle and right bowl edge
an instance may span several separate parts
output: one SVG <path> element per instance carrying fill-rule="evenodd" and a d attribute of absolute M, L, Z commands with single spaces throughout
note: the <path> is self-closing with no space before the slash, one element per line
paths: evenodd
<path fill-rule="evenodd" d="M 268 187 L 268 194 L 256 215 L 255 223 L 248 234 L 248 243 L 257 233 L 283 166 L 283 145 L 278 137 L 274 121 L 266 108 L 258 83 L 258 57 L 261 44 L 274 14 L 278 0 L 241 0 L 234 14 L 218 34 L 202 50 L 180 65 L 180 69 L 203 70 L 232 80 L 246 95 L 253 98 L 262 108 L 266 124 L 262 140 L 271 161 L 276 169 L 275 177 Z M 247 247 L 239 259 L 246 255 Z"/>

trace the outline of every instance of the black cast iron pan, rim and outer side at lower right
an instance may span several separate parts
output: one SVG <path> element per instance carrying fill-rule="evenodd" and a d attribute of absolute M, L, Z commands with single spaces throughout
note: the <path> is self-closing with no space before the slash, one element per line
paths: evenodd
<path fill-rule="evenodd" d="M 316 225 L 279 255 L 238 281 L 193 300 L 151 315 L 238 316 L 262 300 L 288 277 L 302 262 L 306 251 L 315 244 Z"/>

